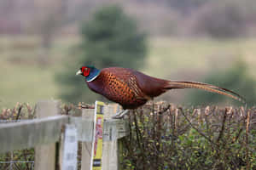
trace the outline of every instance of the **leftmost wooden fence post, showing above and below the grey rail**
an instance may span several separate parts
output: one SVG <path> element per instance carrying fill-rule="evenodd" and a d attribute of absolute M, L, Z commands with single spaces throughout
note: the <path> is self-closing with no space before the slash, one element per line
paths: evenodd
<path fill-rule="evenodd" d="M 43 100 L 36 105 L 37 118 L 61 114 L 61 102 Z M 44 144 L 35 147 L 35 170 L 55 170 L 55 144 Z"/>

